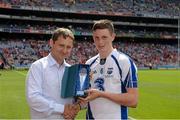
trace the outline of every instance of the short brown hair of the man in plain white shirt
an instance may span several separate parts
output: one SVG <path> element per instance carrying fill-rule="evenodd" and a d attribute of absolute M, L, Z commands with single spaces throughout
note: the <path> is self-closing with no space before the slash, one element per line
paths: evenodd
<path fill-rule="evenodd" d="M 63 36 L 64 38 L 66 37 L 70 37 L 72 40 L 74 40 L 74 34 L 71 30 L 67 29 L 67 28 L 58 28 L 54 31 L 54 33 L 52 34 L 51 39 L 53 41 L 56 41 L 58 39 L 59 36 Z"/>

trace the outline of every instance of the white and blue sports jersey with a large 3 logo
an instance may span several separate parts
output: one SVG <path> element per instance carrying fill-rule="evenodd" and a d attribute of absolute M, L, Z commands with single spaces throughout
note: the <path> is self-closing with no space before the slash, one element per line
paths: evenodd
<path fill-rule="evenodd" d="M 137 68 L 125 54 L 114 49 L 100 64 L 99 54 L 89 59 L 93 72 L 91 88 L 111 93 L 125 93 L 126 88 L 137 88 Z M 127 119 L 127 107 L 105 98 L 97 98 L 88 104 L 87 119 Z"/>

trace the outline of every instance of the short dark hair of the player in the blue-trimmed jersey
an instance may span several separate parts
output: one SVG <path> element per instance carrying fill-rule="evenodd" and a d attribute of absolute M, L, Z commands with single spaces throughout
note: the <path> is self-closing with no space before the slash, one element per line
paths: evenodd
<path fill-rule="evenodd" d="M 114 33 L 114 25 L 111 20 L 103 19 L 94 22 L 92 31 L 97 29 L 108 29 L 111 33 Z"/>

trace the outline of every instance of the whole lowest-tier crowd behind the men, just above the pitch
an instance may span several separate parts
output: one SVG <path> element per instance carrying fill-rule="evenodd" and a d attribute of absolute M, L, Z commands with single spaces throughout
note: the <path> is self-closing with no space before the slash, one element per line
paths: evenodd
<path fill-rule="evenodd" d="M 47 56 L 48 41 L 43 40 L 1 40 L 0 51 L 6 62 L 14 67 L 29 67 L 35 60 Z M 137 42 L 114 42 L 114 48 L 131 56 L 138 67 L 176 66 L 177 45 Z M 68 63 L 84 63 L 96 55 L 92 41 L 76 41 Z"/>

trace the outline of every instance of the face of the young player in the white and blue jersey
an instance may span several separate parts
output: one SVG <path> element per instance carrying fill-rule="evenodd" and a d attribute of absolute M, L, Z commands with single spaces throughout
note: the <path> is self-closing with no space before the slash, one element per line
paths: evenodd
<path fill-rule="evenodd" d="M 115 34 L 111 33 L 108 29 L 97 29 L 93 31 L 93 39 L 97 50 L 100 54 L 109 53 L 112 47 L 112 41 Z"/>

